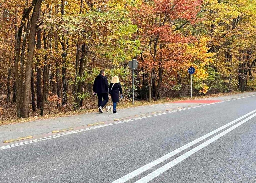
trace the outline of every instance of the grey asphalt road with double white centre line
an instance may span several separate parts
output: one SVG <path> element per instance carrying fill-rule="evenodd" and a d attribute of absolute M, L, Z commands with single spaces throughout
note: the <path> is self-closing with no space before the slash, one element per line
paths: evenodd
<path fill-rule="evenodd" d="M 255 99 L 3 149 L 0 182 L 256 182 Z"/>

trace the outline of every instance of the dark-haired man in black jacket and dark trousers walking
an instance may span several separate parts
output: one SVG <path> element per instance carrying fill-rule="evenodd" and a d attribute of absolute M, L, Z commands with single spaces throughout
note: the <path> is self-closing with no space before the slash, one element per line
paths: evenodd
<path fill-rule="evenodd" d="M 98 95 L 99 112 L 103 113 L 103 107 L 109 101 L 109 82 L 108 78 L 105 76 L 104 70 L 101 70 L 100 74 L 95 78 L 93 83 L 93 91 Z"/>

